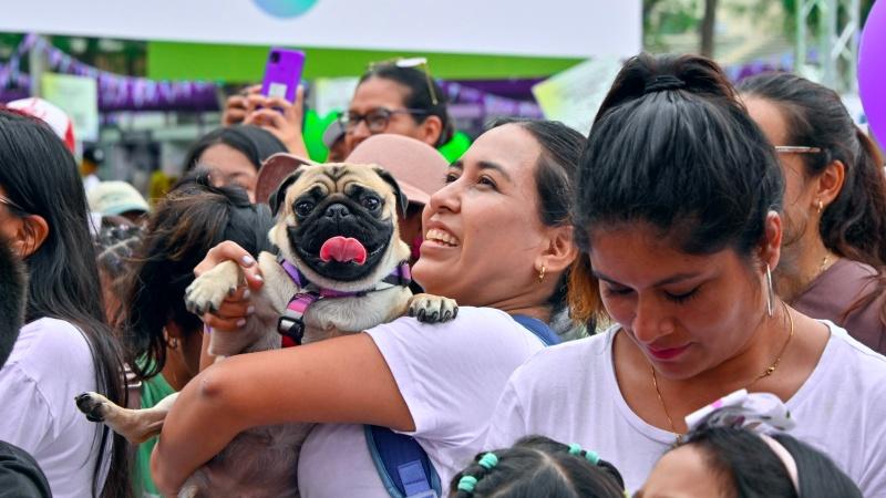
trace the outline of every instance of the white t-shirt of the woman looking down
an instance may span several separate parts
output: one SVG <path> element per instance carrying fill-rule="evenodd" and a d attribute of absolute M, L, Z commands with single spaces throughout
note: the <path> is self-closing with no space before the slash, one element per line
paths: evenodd
<path fill-rule="evenodd" d="M 831 338 L 810 377 L 786 405 L 791 435 L 825 452 L 862 489 L 886 496 L 886 357 L 831 322 Z M 487 448 L 540 434 L 578 443 L 611 461 L 630 494 L 646 481 L 676 436 L 643 422 L 616 382 L 618 328 L 548 347 L 521 366 L 495 408 Z"/>

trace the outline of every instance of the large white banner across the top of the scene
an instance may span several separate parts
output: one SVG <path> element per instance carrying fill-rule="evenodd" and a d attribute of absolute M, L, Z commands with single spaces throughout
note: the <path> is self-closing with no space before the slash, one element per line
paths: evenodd
<path fill-rule="evenodd" d="M 640 0 L 4 0 L 0 31 L 588 58 L 641 50 Z"/>

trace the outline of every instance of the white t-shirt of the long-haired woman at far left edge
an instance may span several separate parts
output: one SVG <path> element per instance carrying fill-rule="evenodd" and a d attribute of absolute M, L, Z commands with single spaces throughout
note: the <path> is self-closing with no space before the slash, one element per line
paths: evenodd
<path fill-rule="evenodd" d="M 55 498 L 92 496 L 102 426 L 86 421 L 74 397 L 95 388 L 89 343 L 62 320 L 24 325 L 0 370 L 0 439 L 34 457 Z"/>

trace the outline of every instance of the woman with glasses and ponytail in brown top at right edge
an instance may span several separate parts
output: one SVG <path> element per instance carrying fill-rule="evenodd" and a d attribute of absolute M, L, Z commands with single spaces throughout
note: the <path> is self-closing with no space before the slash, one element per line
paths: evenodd
<path fill-rule="evenodd" d="M 883 157 L 831 89 L 789 73 L 739 84 L 785 177 L 775 290 L 886 353 L 886 175 Z"/>

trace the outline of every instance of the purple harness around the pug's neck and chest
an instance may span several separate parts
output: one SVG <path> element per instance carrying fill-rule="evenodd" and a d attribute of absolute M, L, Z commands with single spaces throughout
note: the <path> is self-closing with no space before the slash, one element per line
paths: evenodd
<path fill-rule="evenodd" d="M 277 262 L 280 263 L 286 274 L 296 283 L 301 292 L 296 293 L 289 300 L 286 311 L 277 321 L 277 332 L 284 336 L 284 342 L 287 339 L 292 341 L 295 345 L 301 344 L 301 339 L 305 336 L 305 313 L 308 308 L 321 299 L 339 299 L 339 298 L 359 298 L 370 292 L 378 292 L 393 287 L 406 287 L 412 282 L 412 272 L 410 271 L 409 263 L 402 261 L 396 268 L 391 271 L 380 283 L 372 289 L 365 289 L 356 292 L 343 292 L 334 289 L 324 289 L 315 286 L 305 277 L 305 273 L 299 271 L 291 262 L 287 261 L 282 255 L 277 257 Z"/>

